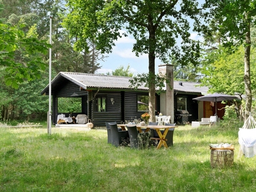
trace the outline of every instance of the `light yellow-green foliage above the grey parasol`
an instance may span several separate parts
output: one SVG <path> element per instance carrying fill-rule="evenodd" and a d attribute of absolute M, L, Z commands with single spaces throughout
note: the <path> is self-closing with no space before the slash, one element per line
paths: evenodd
<path fill-rule="evenodd" d="M 219 46 L 214 51 L 205 53 L 200 72 L 204 74 L 202 84 L 209 87 L 209 92 L 227 93 L 229 95 L 245 94 L 244 90 L 244 47 L 240 46 L 237 51 L 230 54 L 227 48 Z M 255 56 L 252 52 L 251 81 L 252 90 L 255 90 Z M 221 83 L 220 83 L 221 82 Z"/>

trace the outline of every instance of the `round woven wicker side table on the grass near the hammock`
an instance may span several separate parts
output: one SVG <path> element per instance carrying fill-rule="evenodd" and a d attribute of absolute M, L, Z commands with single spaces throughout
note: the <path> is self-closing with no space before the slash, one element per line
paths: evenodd
<path fill-rule="evenodd" d="M 212 168 L 224 168 L 232 166 L 234 163 L 234 146 L 228 148 L 212 148 L 211 149 L 211 166 Z"/>

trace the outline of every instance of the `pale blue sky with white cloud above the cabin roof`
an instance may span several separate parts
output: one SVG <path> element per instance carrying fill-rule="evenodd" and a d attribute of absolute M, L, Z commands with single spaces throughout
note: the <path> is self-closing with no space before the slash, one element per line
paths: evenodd
<path fill-rule="evenodd" d="M 190 38 L 193 40 L 200 40 L 200 36 L 196 33 L 191 33 Z M 113 51 L 110 54 L 104 54 L 104 56 L 107 56 L 104 58 L 104 61 L 99 61 L 100 66 L 102 67 L 97 70 L 96 74 L 106 74 L 107 72 L 111 73 L 113 70 L 121 66 L 124 66 L 126 69 L 128 65 L 130 66 L 130 72 L 134 75 L 147 73 L 148 54 L 143 54 L 137 57 L 135 53 L 132 52 L 132 45 L 134 42 L 135 40 L 131 35 L 118 38 L 115 42 L 115 47 L 113 47 Z M 162 64 L 166 63 L 163 63 L 161 60 L 156 58 L 156 72 L 158 71 L 158 66 Z"/>

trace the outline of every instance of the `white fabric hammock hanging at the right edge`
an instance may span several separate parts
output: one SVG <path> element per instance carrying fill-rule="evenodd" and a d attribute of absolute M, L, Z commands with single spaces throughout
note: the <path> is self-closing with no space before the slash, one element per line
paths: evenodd
<path fill-rule="evenodd" d="M 239 128 L 238 141 L 245 157 L 256 155 L 256 122 L 251 113 L 246 122 L 244 122 L 243 127 Z"/>

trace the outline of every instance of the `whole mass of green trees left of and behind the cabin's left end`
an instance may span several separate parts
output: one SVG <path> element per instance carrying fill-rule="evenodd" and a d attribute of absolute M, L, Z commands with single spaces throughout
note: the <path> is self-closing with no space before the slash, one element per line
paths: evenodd
<path fill-rule="evenodd" d="M 40 92 L 49 83 L 48 74 L 45 74 L 49 71 L 49 10 L 52 15 L 52 77 L 60 71 L 94 73 L 100 68 L 97 61 L 103 57 L 92 41 L 86 42 L 90 49 L 74 50 L 76 38 L 70 39 L 61 25 L 66 17 L 64 4 L 65 1 L 60 0 L 0 0 L 2 120 L 47 117 L 49 101 Z"/>

